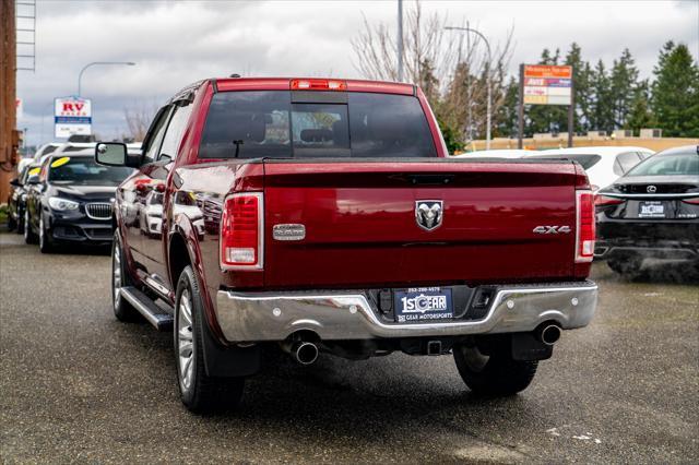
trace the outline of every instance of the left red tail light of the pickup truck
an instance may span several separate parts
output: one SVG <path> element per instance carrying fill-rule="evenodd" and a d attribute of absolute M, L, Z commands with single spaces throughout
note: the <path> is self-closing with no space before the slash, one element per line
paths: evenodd
<path fill-rule="evenodd" d="M 260 192 L 228 195 L 221 215 L 221 267 L 261 270 L 264 205 Z"/>

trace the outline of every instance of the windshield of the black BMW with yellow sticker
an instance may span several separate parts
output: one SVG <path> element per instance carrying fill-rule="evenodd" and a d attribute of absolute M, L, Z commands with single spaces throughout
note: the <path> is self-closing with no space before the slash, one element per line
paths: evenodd
<path fill-rule="evenodd" d="M 97 165 L 90 156 L 57 156 L 49 164 L 48 180 L 59 184 L 119 186 L 131 172 L 132 168 Z"/>

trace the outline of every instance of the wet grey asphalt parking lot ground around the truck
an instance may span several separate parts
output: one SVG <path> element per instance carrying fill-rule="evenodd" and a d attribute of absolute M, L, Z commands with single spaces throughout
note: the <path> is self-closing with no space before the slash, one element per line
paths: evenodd
<path fill-rule="evenodd" d="M 592 325 L 511 398 L 471 395 L 451 357 L 325 356 L 198 417 L 171 336 L 112 318 L 109 260 L 0 234 L 2 462 L 699 461 L 699 278 L 684 266 L 628 282 L 595 264 Z"/>

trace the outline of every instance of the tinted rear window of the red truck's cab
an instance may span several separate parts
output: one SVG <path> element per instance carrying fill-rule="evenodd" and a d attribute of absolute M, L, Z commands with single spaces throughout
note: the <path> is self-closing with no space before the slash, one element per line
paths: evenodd
<path fill-rule="evenodd" d="M 292 103 L 288 91 L 214 95 L 200 158 L 436 157 L 425 112 L 406 95 L 347 93 Z"/>

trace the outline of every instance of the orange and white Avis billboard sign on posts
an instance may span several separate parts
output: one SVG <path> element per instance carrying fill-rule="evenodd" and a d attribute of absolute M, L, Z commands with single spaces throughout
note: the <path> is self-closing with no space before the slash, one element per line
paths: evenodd
<path fill-rule="evenodd" d="M 571 105 L 572 67 L 523 65 L 524 105 Z"/>

